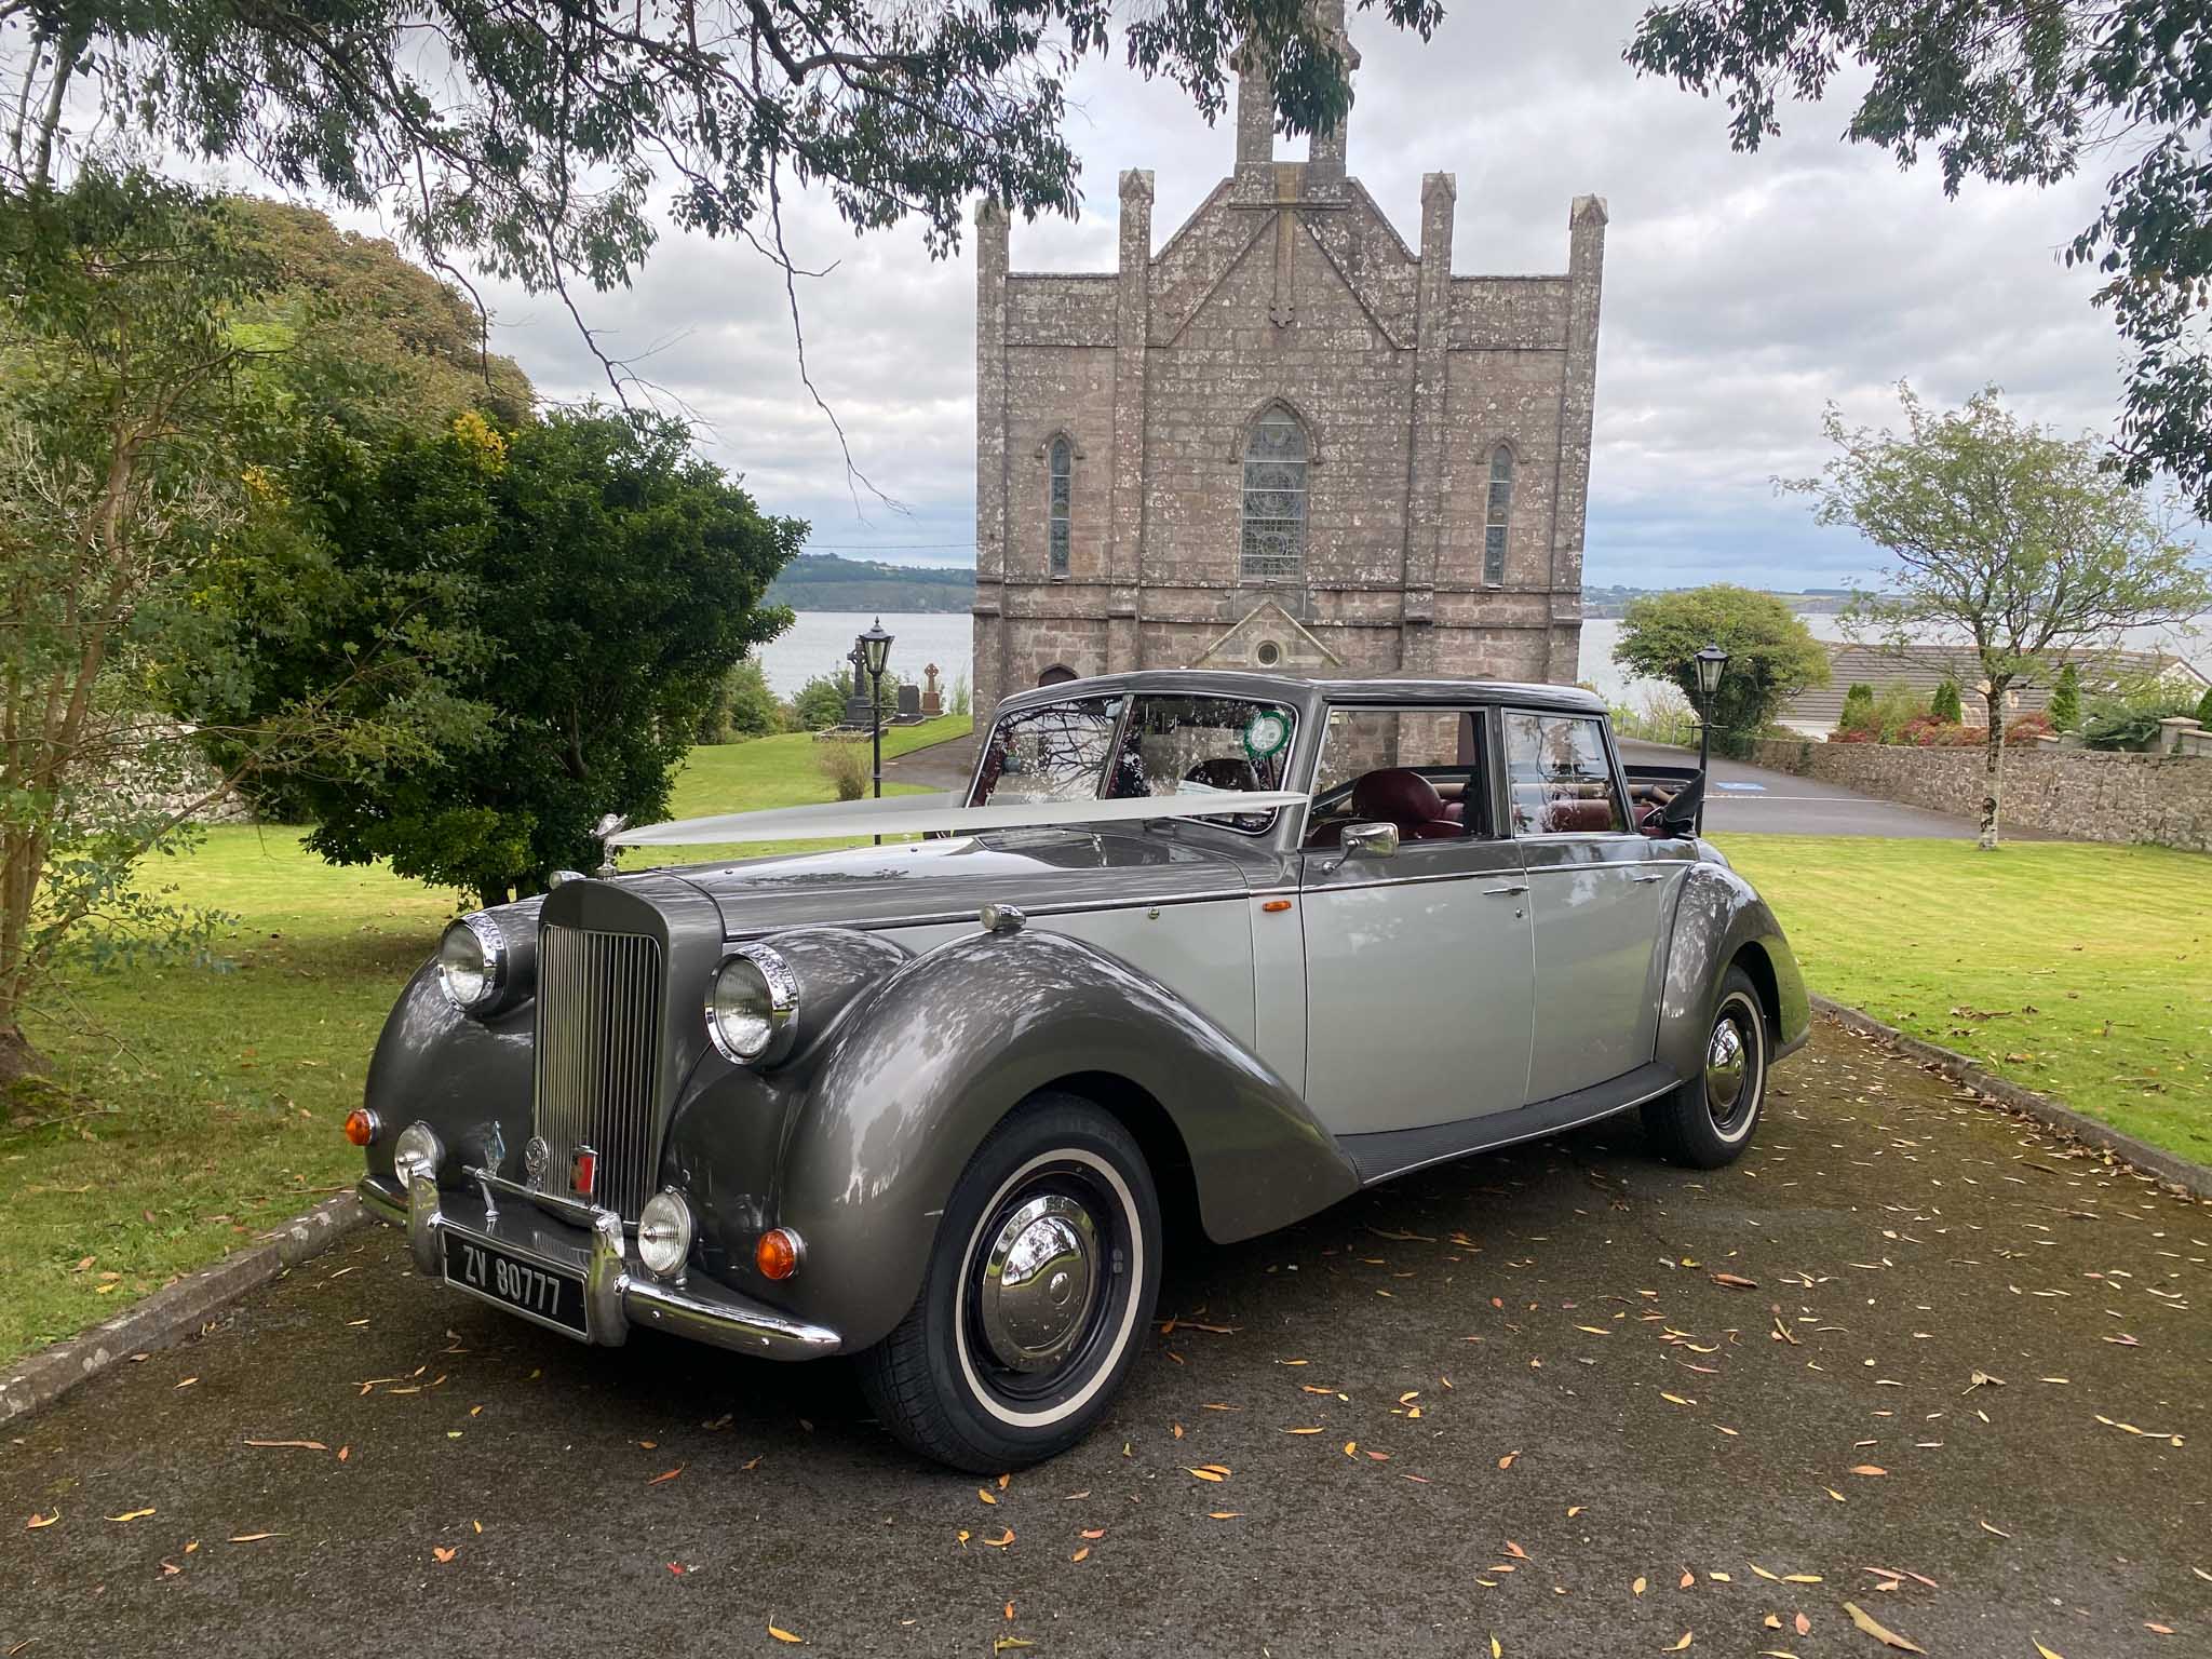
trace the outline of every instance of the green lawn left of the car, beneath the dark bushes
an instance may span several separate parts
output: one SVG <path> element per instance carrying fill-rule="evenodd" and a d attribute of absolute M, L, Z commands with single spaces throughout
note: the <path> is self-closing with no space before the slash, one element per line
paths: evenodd
<path fill-rule="evenodd" d="M 967 728 L 964 717 L 894 728 L 883 750 Z M 830 796 L 814 741 L 770 737 L 695 750 L 675 814 Z M 55 1075 L 0 1106 L 0 1363 L 345 1190 L 361 1155 L 338 1126 L 361 1104 L 369 1048 L 462 909 L 383 869 L 325 865 L 276 827 L 212 830 L 148 880 L 241 918 L 221 947 L 228 964 L 86 973 L 33 1024 Z"/>

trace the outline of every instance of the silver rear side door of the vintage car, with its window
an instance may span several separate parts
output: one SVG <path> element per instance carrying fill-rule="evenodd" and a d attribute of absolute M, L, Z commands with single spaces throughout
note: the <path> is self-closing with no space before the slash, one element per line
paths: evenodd
<path fill-rule="evenodd" d="M 1535 927 L 1526 1099 L 1540 1102 L 1652 1057 L 1661 931 L 1683 865 L 1628 827 L 1597 714 L 1504 710 L 1500 737 Z"/>

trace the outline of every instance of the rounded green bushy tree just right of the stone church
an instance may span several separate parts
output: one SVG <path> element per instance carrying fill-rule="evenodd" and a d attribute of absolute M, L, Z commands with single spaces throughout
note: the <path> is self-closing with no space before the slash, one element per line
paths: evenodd
<path fill-rule="evenodd" d="M 1712 708 L 1699 697 L 1694 661 L 1708 644 L 1728 653 Z M 1829 672 L 1827 650 L 1803 617 L 1772 593 L 1730 582 L 1635 599 L 1613 661 L 1672 681 L 1712 721 L 1714 743 L 1730 754 L 1750 752 L 1783 706 L 1801 690 L 1825 686 Z"/>

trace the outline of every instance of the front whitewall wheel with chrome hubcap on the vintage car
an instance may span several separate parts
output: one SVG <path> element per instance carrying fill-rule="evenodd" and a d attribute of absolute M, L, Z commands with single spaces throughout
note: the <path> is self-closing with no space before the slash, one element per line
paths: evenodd
<path fill-rule="evenodd" d="M 1159 1239 L 1128 1130 L 1075 1095 L 1033 1095 L 953 1186 L 911 1312 L 858 1358 L 876 1416 L 956 1469 L 1066 1451 L 1137 1356 Z"/>

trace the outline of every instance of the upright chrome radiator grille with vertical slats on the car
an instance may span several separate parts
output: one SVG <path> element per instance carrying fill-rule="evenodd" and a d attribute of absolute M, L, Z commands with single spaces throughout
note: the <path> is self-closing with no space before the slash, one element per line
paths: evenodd
<path fill-rule="evenodd" d="M 637 1221 L 659 1126 L 661 942 L 546 922 L 538 931 L 535 1133 L 544 1186 L 568 1192 L 575 1148 L 599 1155 L 593 1201 Z"/>

